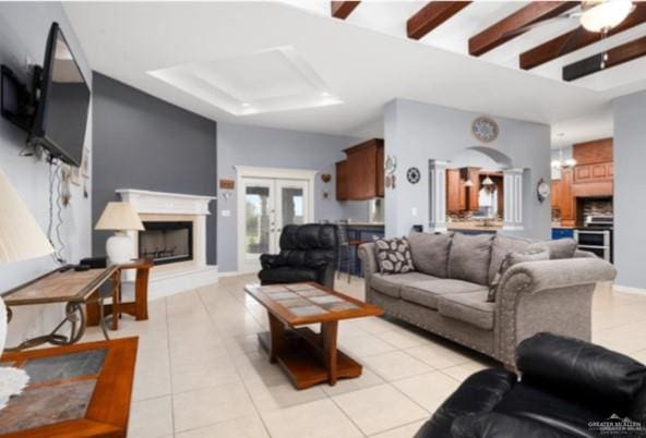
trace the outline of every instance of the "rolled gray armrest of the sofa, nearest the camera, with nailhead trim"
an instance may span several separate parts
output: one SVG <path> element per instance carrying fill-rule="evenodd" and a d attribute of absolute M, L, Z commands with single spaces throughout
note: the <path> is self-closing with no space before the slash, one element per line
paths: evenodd
<path fill-rule="evenodd" d="M 497 292 L 497 357 L 515 368 L 518 343 L 541 331 L 589 340 L 593 292 L 615 273 L 608 261 L 587 257 L 512 266 Z"/>

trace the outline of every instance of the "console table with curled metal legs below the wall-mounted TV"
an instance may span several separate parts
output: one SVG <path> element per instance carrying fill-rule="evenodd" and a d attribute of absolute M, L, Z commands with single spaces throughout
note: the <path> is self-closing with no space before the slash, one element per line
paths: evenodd
<path fill-rule="evenodd" d="M 4 350 L 19 351 L 46 342 L 53 345 L 77 342 L 85 332 L 87 319 L 85 305 L 88 300 L 110 279 L 115 289 L 119 284 L 119 278 L 120 268 L 115 265 L 86 271 L 75 271 L 71 267 L 64 267 L 8 291 L 2 299 L 7 305 L 9 321 L 13 316 L 12 307 L 34 304 L 65 303 L 65 317 L 50 333 L 28 339 L 20 345 Z M 70 325 L 70 334 L 61 334 L 59 331 L 67 324 Z"/>

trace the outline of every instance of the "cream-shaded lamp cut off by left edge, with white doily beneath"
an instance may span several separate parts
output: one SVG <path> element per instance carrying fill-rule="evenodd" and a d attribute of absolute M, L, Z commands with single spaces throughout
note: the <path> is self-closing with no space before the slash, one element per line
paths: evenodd
<path fill-rule="evenodd" d="M 0 170 L 0 265 L 53 253 L 36 219 Z M 0 299 L 0 354 L 7 342 L 7 308 Z M 29 381 L 19 368 L 0 367 L 0 409 Z"/>

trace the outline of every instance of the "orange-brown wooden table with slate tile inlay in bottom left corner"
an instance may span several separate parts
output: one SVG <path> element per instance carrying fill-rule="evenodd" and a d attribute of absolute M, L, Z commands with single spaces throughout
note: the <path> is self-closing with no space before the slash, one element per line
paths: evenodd
<path fill-rule="evenodd" d="M 137 338 L 7 353 L 29 385 L 0 411 L 0 437 L 125 438 Z"/>

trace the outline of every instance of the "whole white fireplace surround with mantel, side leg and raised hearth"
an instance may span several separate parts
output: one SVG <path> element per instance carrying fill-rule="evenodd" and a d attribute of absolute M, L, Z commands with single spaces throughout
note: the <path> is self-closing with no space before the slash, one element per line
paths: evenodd
<path fill-rule="evenodd" d="M 206 216 L 211 215 L 208 204 L 215 196 L 187 195 L 182 193 L 152 192 L 135 188 L 115 191 L 121 200 L 131 204 L 142 221 L 176 220 L 180 217 L 193 222 L 193 259 L 178 264 L 156 266 L 149 278 L 148 297 L 167 296 L 190 289 L 217 282 L 217 266 L 206 264 Z M 129 231 L 133 244 L 132 253 L 139 251 L 139 232 Z M 125 281 L 134 280 L 134 272 L 125 272 Z"/>

